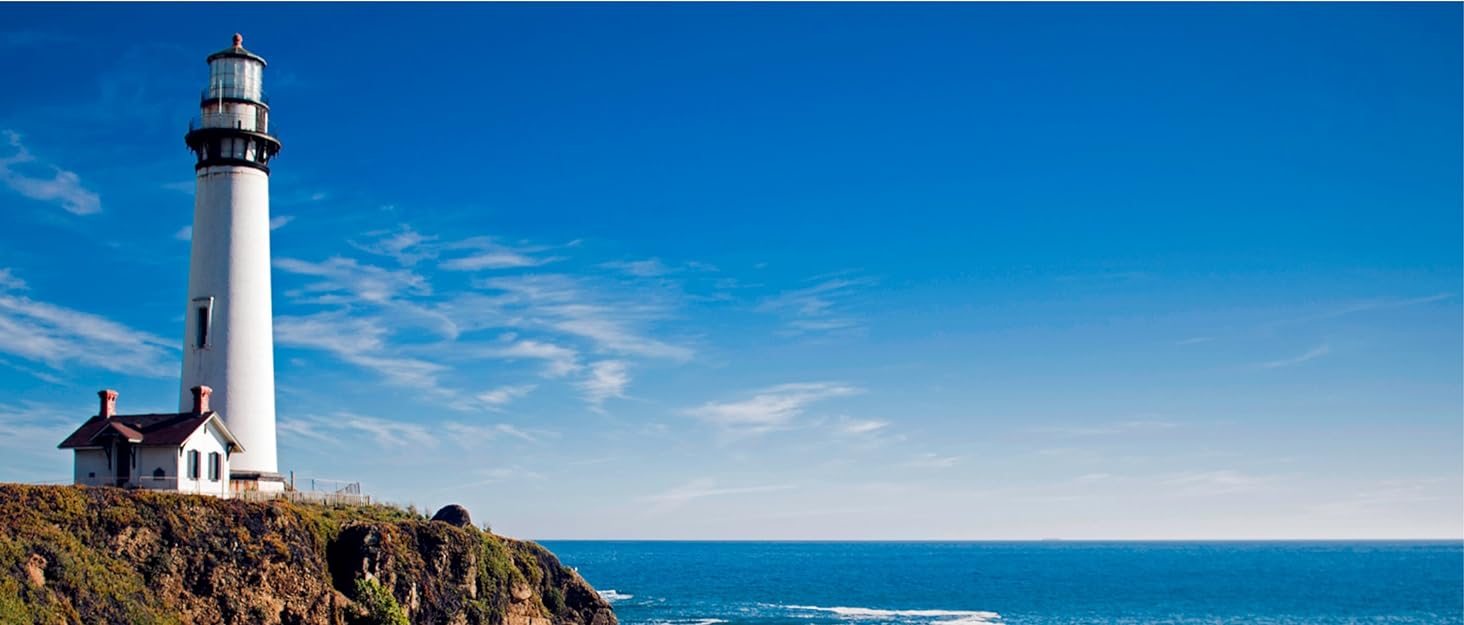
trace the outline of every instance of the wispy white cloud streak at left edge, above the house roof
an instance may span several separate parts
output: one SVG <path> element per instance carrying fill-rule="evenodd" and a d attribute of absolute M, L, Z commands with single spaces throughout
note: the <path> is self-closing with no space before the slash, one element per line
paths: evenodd
<path fill-rule="evenodd" d="M 3 275 L 12 282 L 7 288 L 15 290 L 19 278 L 9 269 Z M 174 343 L 98 315 L 0 290 L 0 353 L 51 369 L 82 364 L 116 373 L 168 378 L 177 375 Z"/>

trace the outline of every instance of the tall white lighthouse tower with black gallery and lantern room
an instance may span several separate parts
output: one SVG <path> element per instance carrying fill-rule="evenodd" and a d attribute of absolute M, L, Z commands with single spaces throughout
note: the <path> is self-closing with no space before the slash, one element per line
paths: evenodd
<path fill-rule="evenodd" d="M 201 116 L 180 410 L 193 386 L 244 451 L 230 458 L 234 489 L 280 490 L 275 460 L 274 326 L 269 299 L 269 161 L 280 139 L 264 94 L 265 60 L 234 45 L 208 56 Z"/>

